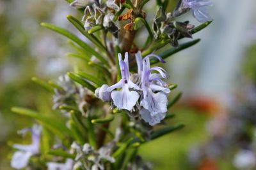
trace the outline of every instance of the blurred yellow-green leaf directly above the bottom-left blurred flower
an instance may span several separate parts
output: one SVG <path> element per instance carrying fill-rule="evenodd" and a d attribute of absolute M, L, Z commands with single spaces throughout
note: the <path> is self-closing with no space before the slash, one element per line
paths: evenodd
<path fill-rule="evenodd" d="M 63 122 L 53 120 L 52 117 L 46 117 L 45 115 L 42 115 L 33 110 L 28 110 L 26 108 L 13 107 L 12 111 L 14 113 L 19 113 L 20 115 L 26 115 L 28 117 L 35 118 L 45 128 L 49 129 L 49 131 L 56 133 L 56 135 L 60 136 L 60 138 L 64 138 L 65 136 L 73 137 L 72 132 L 70 132 L 70 130 Z"/>

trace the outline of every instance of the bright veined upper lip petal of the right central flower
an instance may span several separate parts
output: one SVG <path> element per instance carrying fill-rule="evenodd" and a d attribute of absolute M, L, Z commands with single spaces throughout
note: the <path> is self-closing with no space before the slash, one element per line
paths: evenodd
<path fill-rule="evenodd" d="M 143 99 L 141 100 L 140 105 L 147 109 L 151 116 L 154 116 L 157 113 L 167 112 L 167 103 L 167 97 L 164 92 L 154 93 L 148 88 L 147 95 L 143 92 Z"/>

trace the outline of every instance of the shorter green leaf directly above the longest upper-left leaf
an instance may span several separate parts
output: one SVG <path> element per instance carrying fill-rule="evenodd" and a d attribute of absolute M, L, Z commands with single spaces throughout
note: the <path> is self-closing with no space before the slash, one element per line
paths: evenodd
<path fill-rule="evenodd" d="M 78 29 L 78 31 L 81 32 L 81 34 L 86 36 L 86 38 L 90 39 L 90 41 L 92 41 L 92 43 L 94 43 L 96 46 L 98 46 L 100 50 L 102 50 L 102 49 L 106 50 L 104 45 L 102 45 L 102 43 L 99 41 L 99 39 L 96 36 L 94 36 L 93 34 L 89 34 L 87 31 L 84 30 L 84 25 L 79 20 L 77 20 L 77 18 L 75 18 L 71 15 L 68 15 L 67 19 L 71 24 L 73 24 Z"/>

